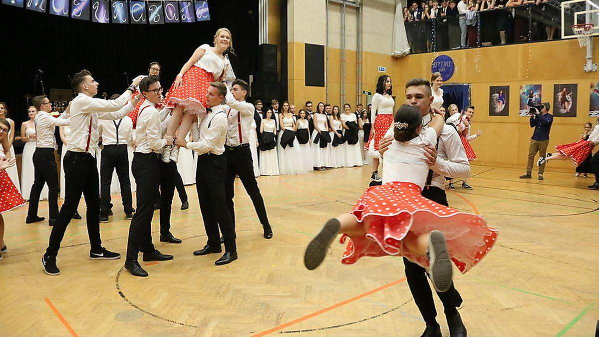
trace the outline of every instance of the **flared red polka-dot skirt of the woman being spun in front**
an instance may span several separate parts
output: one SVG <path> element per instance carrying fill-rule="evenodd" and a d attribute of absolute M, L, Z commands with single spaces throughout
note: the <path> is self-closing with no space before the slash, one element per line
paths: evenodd
<path fill-rule="evenodd" d="M 416 236 L 432 230 L 443 232 L 449 255 L 460 272 L 476 266 L 497 241 L 497 230 L 479 215 L 459 212 L 428 200 L 414 183 L 392 182 L 367 188 L 350 212 L 365 222 L 365 236 L 343 234 L 347 242 L 341 258 L 353 264 L 364 256 L 396 255 L 428 267 L 428 258 L 412 254 L 403 243 L 408 232 Z"/>

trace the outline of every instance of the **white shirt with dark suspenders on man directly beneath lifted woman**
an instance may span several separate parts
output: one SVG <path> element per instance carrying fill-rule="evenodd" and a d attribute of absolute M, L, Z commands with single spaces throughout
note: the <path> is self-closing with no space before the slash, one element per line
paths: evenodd
<path fill-rule="evenodd" d="M 187 149 L 198 152 L 198 155 L 222 155 L 225 152 L 227 118 L 224 106 L 214 106 L 202 119 L 199 128 L 192 128 L 192 139 Z"/>

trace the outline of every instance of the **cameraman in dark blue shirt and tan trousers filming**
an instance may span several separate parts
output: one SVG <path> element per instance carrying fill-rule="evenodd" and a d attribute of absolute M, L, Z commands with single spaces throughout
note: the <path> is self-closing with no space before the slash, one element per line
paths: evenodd
<path fill-rule="evenodd" d="M 531 107 L 530 112 L 530 127 L 534 128 L 533 137 L 530 140 L 530 148 L 528 148 L 528 165 L 526 168 L 526 174 L 520 176 L 520 179 L 530 179 L 531 172 L 533 171 L 534 156 L 539 152 L 539 156 L 543 157 L 547 154 L 547 145 L 549 145 L 549 131 L 551 130 L 551 124 L 553 124 L 553 115 L 549 113 L 550 104 L 549 102 L 541 103 L 541 111 L 537 111 L 534 107 Z M 545 170 L 545 164 L 539 166 L 539 180 L 543 180 L 543 171 Z"/>

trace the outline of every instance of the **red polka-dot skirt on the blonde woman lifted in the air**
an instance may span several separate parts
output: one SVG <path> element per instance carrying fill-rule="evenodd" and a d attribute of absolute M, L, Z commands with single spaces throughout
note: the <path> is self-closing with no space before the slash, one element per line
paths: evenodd
<path fill-rule="evenodd" d="M 205 113 L 208 83 L 214 82 L 214 75 L 195 65 L 183 74 L 183 82 L 174 89 L 174 83 L 168 89 L 165 104 L 174 108 L 177 104 L 184 106 L 184 113 L 198 115 Z"/>

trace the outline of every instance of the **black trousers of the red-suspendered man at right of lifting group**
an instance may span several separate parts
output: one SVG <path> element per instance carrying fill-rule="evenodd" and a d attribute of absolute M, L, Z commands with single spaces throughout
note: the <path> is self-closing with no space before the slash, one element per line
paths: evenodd
<path fill-rule="evenodd" d="M 235 208 L 233 198 L 235 197 L 235 176 L 239 176 L 243 188 L 246 189 L 247 195 L 252 199 L 254 209 L 260 219 L 262 225 L 268 225 L 268 216 L 266 215 L 266 208 L 264 207 L 264 198 L 260 193 L 256 176 L 254 176 L 254 164 L 252 160 L 252 151 L 250 146 L 237 146 L 230 148 L 225 146 L 226 156 L 226 178 L 225 178 L 225 192 L 227 207 L 233 218 L 233 225 L 235 225 Z"/>

